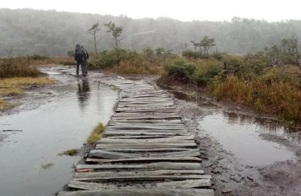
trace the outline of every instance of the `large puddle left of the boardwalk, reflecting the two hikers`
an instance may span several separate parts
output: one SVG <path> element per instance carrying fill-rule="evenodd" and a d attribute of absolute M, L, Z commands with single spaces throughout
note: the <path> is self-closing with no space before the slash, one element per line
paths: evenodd
<path fill-rule="evenodd" d="M 80 157 L 57 154 L 80 148 L 92 128 L 113 113 L 117 91 L 89 77 L 49 74 L 61 82 L 52 89 L 57 96 L 36 109 L 1 116 L 1 129 L 23 131 L 8 133 L 0 146 L 0 195 L 50 196 L 60 190 Z"/>

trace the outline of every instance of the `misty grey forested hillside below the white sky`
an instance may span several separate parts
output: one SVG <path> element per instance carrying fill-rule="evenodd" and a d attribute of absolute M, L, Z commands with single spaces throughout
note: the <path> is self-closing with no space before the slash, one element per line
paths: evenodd
<path fill-rule="evenodd" d="M 179 13 L 181 14 L 181 13 Z M 200 13 L 201 14 L 201 13 Z M 214 14 L 214 13 L 213 13 Z M 13 56 L 41 54 L 65 56 L 80 43 L 94 51 L 92 36 L 87 32 L 96 22 L 113 21 L 123 27 L 122 47 L 142 50 L 146 47 L 182 51 L 190 40 L 199 41 L 204 35 L 215 38 L 216 48 L 229 54 L 244 54 L 279 44 L 281 39 L 295 33 L 301 36 L 301 21 L 269 23 L 264 20 L 233 17 L 228 21 L 182 22 L 170 18 L 131 19 L 88 13 L 68 13 L 33 9 L 0 9 L 0 56 L 13 47 Z M 111 49 L 111 34 L 100 25 L 98 50 Z M 211 50 L 215 50 L 213 47 Z"/>

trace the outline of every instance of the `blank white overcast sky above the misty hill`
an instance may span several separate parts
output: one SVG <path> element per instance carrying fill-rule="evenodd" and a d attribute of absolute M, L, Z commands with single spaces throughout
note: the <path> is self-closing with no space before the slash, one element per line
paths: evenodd
<path fill-rule="evenodd" d="M 267 21 L 301 19 L 301 0 L 3 0 L 0 6 L 114 16 L 125 14 L 131 18 L 170 17 L 181 21 L 230 21 L 233 16 Z"/>

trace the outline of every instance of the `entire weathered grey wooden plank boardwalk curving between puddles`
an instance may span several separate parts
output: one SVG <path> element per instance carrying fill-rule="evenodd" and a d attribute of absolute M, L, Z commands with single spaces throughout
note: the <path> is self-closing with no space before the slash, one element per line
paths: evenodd
<path fill-rule="evenodd" d="M 213 196 L 192 134 L 163 90 L 141 81 L 106 77 L 121 89 L 118 107 L 86 164 L 76 166 L 58 196 Z"/>

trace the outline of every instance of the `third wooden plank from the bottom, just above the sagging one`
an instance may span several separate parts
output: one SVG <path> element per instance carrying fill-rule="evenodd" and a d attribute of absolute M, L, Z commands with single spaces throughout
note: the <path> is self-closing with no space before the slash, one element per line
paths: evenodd
<path fill-rule="evenodd" d="M 189 179 L 211 179 L 210 175 L 135 175 L 135 176 L 110 176 L 110 177 L 88 177 L 73 178 L 81 182 L 110 182 L 110 181 L 155 181 L 155 180 L 189 180 Z"/>

